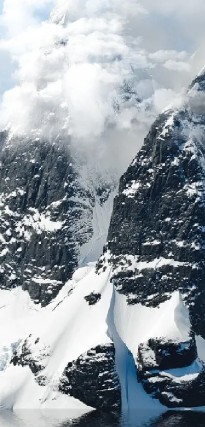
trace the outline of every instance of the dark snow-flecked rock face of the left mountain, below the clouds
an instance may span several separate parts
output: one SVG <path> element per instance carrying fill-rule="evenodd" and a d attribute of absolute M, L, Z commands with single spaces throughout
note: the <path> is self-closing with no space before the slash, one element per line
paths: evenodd
<path fill-rule="evenodd" d="M 4 132 L 0 141 L 0 287 L 20 285 L 42 306 L 71 278 L 93 235 L 95 194 L 103 203 L 110 192 L 82 183 L 63 141 L 8 143 Z"/>

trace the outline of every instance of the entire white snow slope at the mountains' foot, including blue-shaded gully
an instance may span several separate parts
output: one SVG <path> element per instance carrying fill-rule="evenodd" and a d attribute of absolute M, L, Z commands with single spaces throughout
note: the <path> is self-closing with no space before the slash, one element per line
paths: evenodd
<path fill-rule="evenodd" d="M 91 410 L 58 391 L 60 378 L 68 362 L 98 344 L 113 340 L 123 410 L 163 410 L 164 407 L 147 395 L 137 382 L 134 360 L 138 345 L 151 336 L 186 340 L 190 330 L 188 310 L 179 292 L 174 292 L 171 299 L 159 308 L 140 304 L 128 306 L 126 298 L 119 295 L 110 283 L 110 274 L 110 268 L 107 268 L 97 275 L 95 263 L 88 263 L 74 273 L 72 280 L 45 308 L 35 305 L 21 288 L 1 290 L 2 409 Z M 101 300 L 93 306 L 84 300 L 91 292 L 101 294 Z M 37 384 L 28 366 L 10 364 L 14 351 L 26 338 L 31 344 L 33 357 L 45 366 L 42 373 L 47 379 L 46 385 Z M 170 372 L 170 375 L 172 373 L 176 376 L 176 372 Z M 193 366 L 178 376 L 181 375 L 183 381 L 183 375 L 186 379 L 188 374 L 196 373 L 197 367 Z"/>

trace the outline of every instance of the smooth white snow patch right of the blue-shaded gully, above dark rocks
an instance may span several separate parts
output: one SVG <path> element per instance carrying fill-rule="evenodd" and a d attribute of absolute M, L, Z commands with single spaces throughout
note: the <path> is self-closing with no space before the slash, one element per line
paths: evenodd
<path fill-rule="evenodd" d="M 189 311 L 178 291 L 157 308 L 128 305 L 126 297 L 115 291 L 114 324 L 134 357 L 138 345 L 150 337 L 183 342 L 189 339 L 191 327 Z"/>

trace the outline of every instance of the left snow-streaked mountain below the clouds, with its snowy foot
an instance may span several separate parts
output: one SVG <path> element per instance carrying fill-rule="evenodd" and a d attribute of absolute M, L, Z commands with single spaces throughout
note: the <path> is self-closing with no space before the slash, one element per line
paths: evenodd
<path fill-rule="evenodd" d="M 92 263 L 118 177 L 74 155 L 65 135 L 48 142 L 3 131 L 1 145 L 1 407 L 120 408 L 106 325 L 112 288 L 107 273 L 95 284 Z"/>

